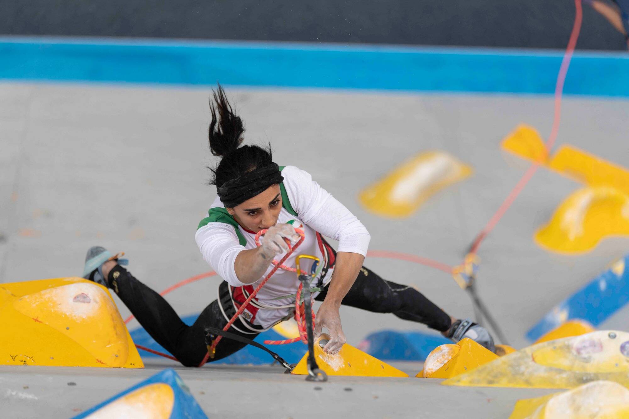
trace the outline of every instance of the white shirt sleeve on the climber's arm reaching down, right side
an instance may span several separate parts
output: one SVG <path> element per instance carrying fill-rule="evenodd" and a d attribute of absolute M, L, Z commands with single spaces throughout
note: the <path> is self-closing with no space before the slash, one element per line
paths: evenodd
<path fill-rule="evenodd" d="M 367 255 L 371 237 L 350 210 L 313 181 L 308 172 L 286 166 L 282 175 L 291 206 L 304 223 L 337 240 L 338 252 Z"/>

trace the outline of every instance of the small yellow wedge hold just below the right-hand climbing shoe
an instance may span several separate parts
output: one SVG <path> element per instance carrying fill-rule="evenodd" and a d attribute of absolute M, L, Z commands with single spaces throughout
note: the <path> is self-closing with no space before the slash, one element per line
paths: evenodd
<path fill-rule="evenodd" d="M 446 345 L 441 346 L 444 347 Z M 455 346 L 458 346 L 459 350 L 455 351 L 449 347 L 442 350 L 439 350 L 440 347 L 437 347 L 437 349 L 433 350 L 433 352 L 437 351 L 437 353 L 444 351 L 446 355 L 445 358 L 447 358 L 450 354 L 452 357 L 450 357 L 450 359 L 448 359 L 447 362 L 440 366 L 436 371 L 433 371 L 430 374 L 426 374 L 426 371 L 424 371 L 423 376 L 426 378 L 455 377 L 459 374 L 472 371 L 479 366 L 487 364 L 487 362 L 498 359 L 498 355 L 477 344 L 470 338 L 464 338 Z M 431 352 L 431 354 L 433 354 L 433 352 Z M 428 355 L 428 357 L 430 357 L 430 355 Z M 437 357 L 438 355 L 435 356 L 435 358 Z M 426 360 L 428 360 L 428 358 L 426 358 Z M 426 366 L 424 366 L 424 369 L 426 369 Z"/>

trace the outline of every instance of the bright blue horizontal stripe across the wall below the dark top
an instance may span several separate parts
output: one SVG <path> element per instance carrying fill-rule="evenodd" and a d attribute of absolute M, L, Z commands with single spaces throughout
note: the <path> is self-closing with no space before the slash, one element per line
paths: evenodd
<path fill-rule="evenodd" d="M 562 52 L 0 37 L 0 79 L 552 94 Z M 629 55 L 577 53 L 565 94 L 629 97 Z"/>

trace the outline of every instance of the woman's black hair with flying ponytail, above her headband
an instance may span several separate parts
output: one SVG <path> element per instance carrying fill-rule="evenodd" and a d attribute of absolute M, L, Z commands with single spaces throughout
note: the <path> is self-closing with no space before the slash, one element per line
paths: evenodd
<path fill-rule="evenodd" d="M 240 147 L 245 133 L 242 119 L 233 112 L 220 84 L 218 91 L 212 93 L 209 101 L 212 116 L 208 129 L 209 150 L 222 159 L 216 169 L 208 167 L 213 174 L 209 184 L 221 187 L 247 172 L 272 164 L 273 156 L 270 145 L 267 148 L 257 145 Z"/>

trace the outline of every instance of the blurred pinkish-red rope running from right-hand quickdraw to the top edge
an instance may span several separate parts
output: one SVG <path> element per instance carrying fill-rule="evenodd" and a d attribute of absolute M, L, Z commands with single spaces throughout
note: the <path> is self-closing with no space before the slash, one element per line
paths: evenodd
<path fill-rule="evenodd" d="M 550 135 L 548 136 L 548 141 L 546 142 L 546 155 L 548 155 L 550 149 L 555 144 L 555 140 L 557 140 L 557 134 L 559 133 L 559 122 L 561 120 L 561 99 L 564 92 L 565 77 L 568 74 L 568 68 L 570 67 L 574 48 L 576 48 L 577 46 L 579 31 L 581 31 L 581 22 L 583 20 L 581 0 L 574 0 L 574 4 L 576 6 L 574 25 L 572 25 L 570 40 L 568 41 L 568 46 L 565 48 L 564 59 L 562 59 L 561 61 L 561 67 L 559 67 L 559 74 L 557 75 L 557 82 L 555 83 L 555 109 L 552 129 L 550 130 Z M 482 229 L 479 235 L 476 236 L 476 239 L 474 239 L 472 247 L 469 250 L 470 254 L 476 254 L 476 251 L 478 250 L 482 241 L 487 237 L 491 230 L 494 229 L 496 224 L 498 224 L 498 221 L 503 218 L 504 213 L 506 213 L 511 204 L 513 204 L 513 201 L 515 201 L 515 199 L 518 197 L 522 189 L 524 189 L 528 181 L 531 180 L 533 174 L 537 172 L 537 169 L 539 167 L 540 165 L 537 162 L 534 162 L 531 167 L 526 170 L 524 176 L 522 176 L 518 184 L 516 184 L 516 186 L 507 196 L 507 198 L 504 199 L 504 202 L 501 204 L 500 208 L 498 208 L 498 211 L 496 211 L 496 213 L 491 217 L 491 220 L 489 220 L 489 222 Z"/>

